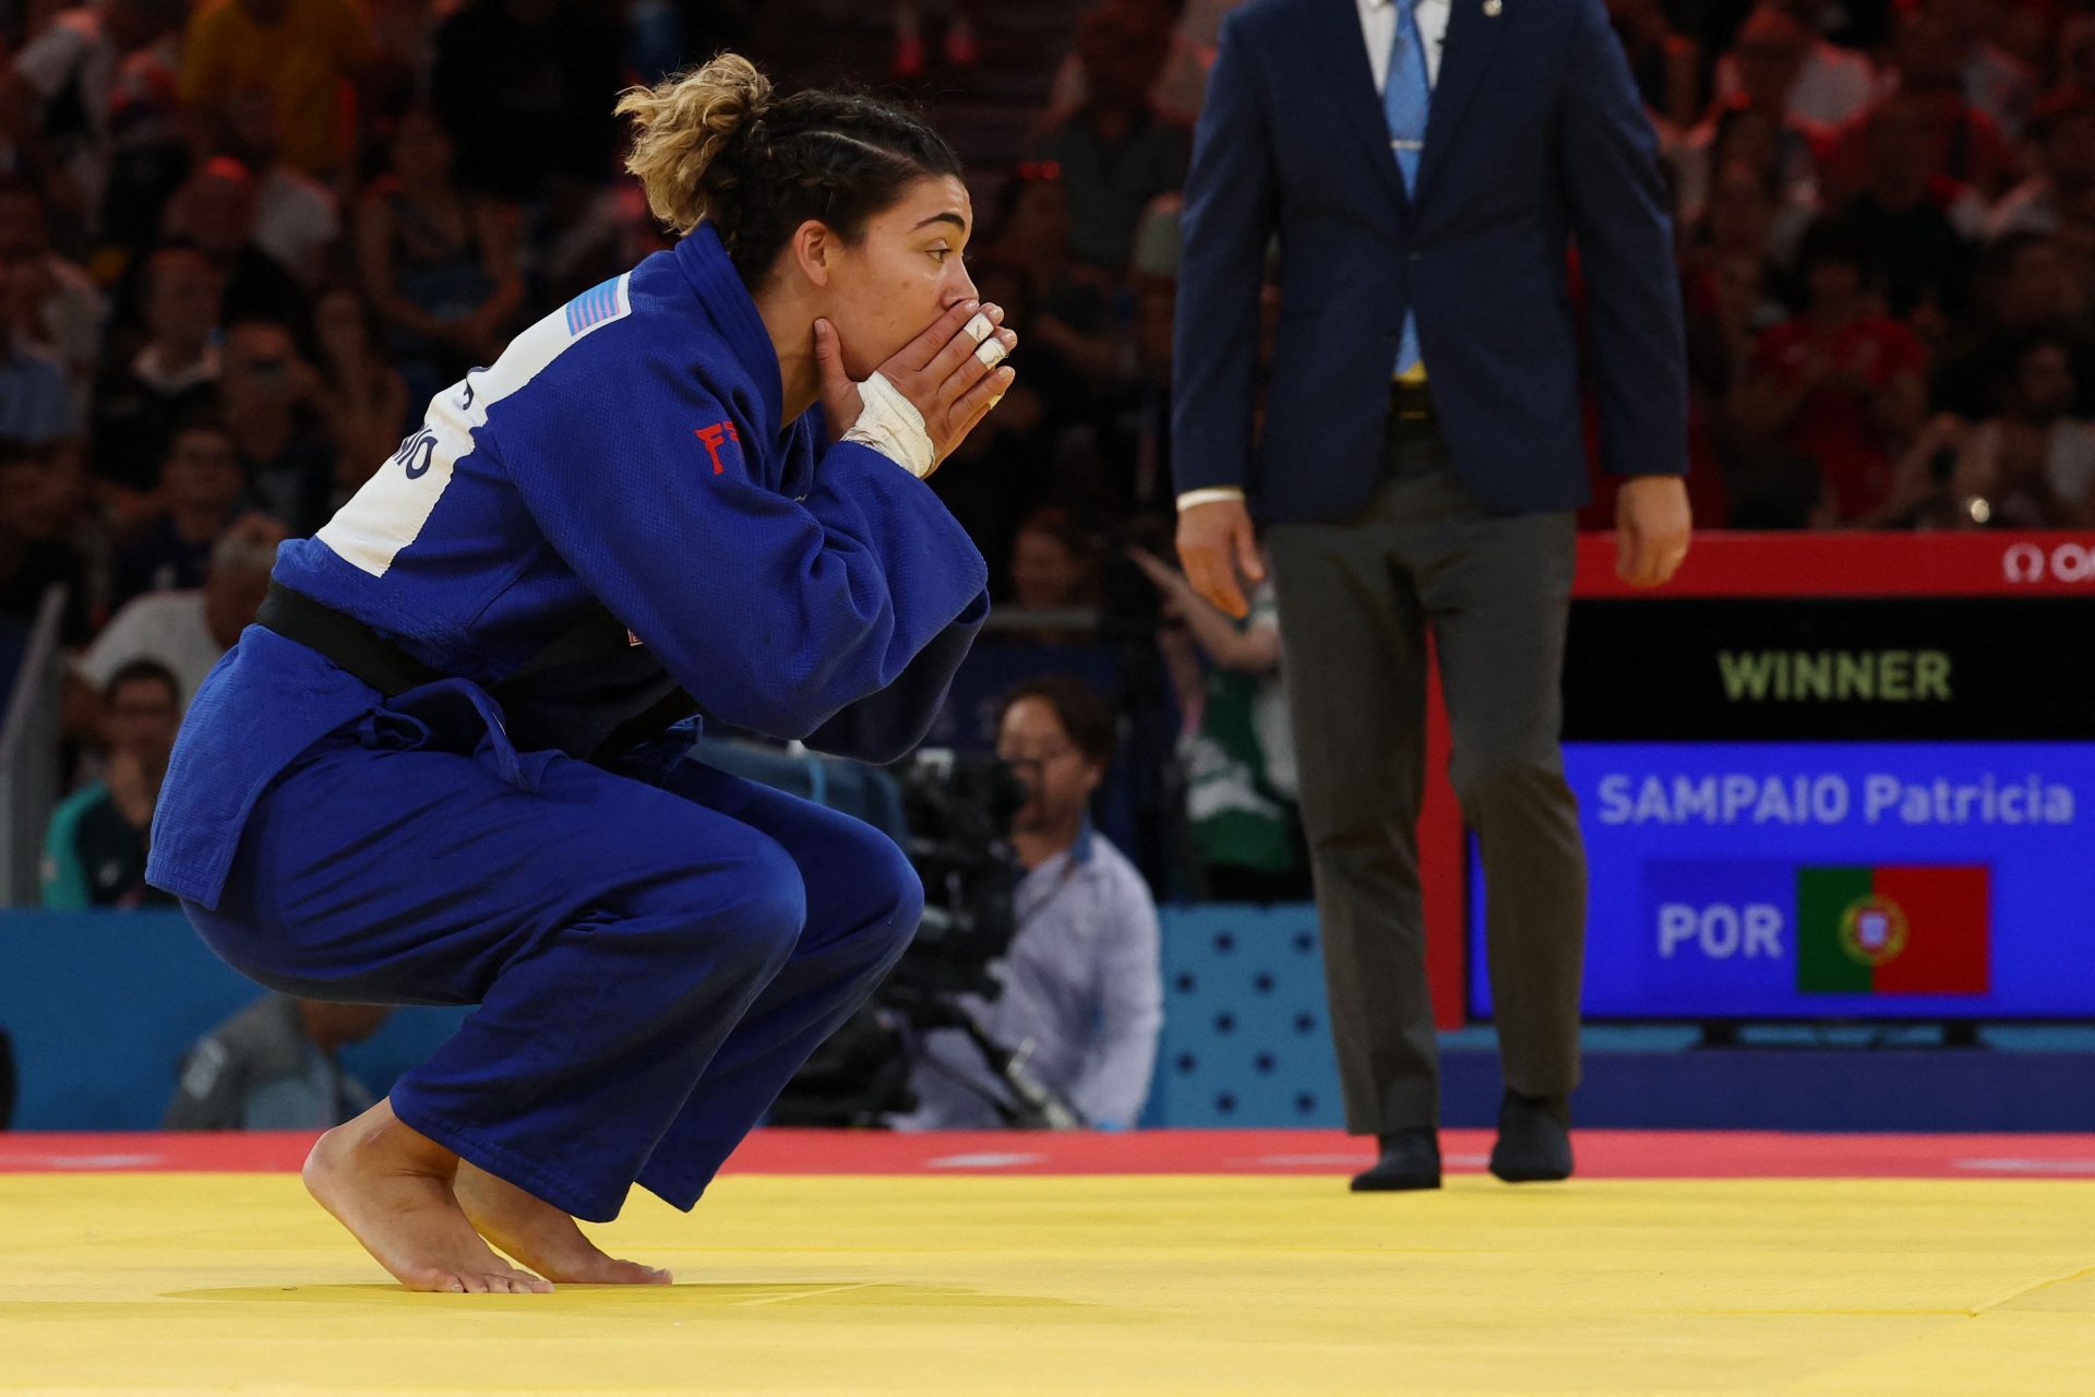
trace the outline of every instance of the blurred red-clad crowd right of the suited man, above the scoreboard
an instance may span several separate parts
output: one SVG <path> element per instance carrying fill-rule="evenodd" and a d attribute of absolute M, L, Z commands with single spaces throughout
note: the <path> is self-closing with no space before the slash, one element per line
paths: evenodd
<path fill-rule="evenodd" d="M 1674 184 L 1699 522 L 2095 519 L 2095 13 L 1814 0 L 1722 50 L 1615 0 Z"/>

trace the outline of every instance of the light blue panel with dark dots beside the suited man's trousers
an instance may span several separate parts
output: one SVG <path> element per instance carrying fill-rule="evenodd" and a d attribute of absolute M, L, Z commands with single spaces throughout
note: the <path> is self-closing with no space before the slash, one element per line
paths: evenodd
<path fill-rule="evenodd" d="M 1144 1125 L 1343 1125 L 1314 905 L 1167 909 L 1163 955 Z"/>

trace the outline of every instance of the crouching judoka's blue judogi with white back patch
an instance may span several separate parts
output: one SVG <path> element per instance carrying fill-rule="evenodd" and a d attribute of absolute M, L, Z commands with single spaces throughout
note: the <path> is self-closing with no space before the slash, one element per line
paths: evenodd
<path fill-rule="evenodd" d="M 922 903 L 867 825 L 681 760 L 662 700 L 892 760 L 989 612 L 930 488 L 779 400 L 710 226 L 528 329 L 277 561 L 429 681 L 251 626 L 153 825 L 147 878 L 262 984 L 478 1003 L 394 1110 L 593 1221 L 691 1206 Z"/>

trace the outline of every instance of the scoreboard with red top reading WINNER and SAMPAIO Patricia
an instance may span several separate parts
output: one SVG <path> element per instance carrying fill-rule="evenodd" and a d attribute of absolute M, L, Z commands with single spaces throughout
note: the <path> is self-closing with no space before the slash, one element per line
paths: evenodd
<path fill-rule="evenodd" d="M 2095 549 L 1829 545 L 1726 540 L 1699 586 L 1573 599 L 1586 1014 L 2095 1018 Z M 1467 894 L 1490 1018 L 1475 857 Z"/>

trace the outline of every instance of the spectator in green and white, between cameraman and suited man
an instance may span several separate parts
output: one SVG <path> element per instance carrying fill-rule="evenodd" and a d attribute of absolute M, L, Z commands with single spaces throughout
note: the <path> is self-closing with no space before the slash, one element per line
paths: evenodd
<path fill-rule="evenodd" d="M 1154 553 L 1133 549 L 1129 557 L 1163 599 L 1159 645 L 1184 708 L 1186 819 L 1205 896 L 1242 903 L 1309 896 L 1270 570 L 1251 593 L 1251 612 L 1234 620 Z"/>

